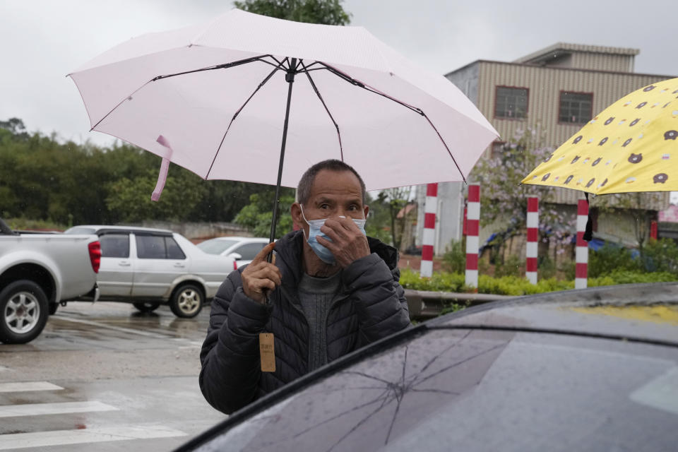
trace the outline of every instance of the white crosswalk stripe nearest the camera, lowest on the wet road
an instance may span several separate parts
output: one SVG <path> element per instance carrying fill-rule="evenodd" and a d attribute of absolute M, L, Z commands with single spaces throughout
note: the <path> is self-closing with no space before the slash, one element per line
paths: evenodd
<path fill-rule="evenodd" d="M 64 444 L 100 443 L 126 439 L 170 438 L 186 436 L 179 430 L 162 425 L 119 425 L 94 427 L 81 430 L 57 430 L 54 432 L 13 433 L 0 435 L 0 451 L 28 447 L 62 446 Z"/>

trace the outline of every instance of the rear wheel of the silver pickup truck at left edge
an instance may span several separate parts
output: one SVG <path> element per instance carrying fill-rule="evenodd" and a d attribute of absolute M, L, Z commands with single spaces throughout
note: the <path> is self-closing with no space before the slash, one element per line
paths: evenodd
<path fill-rule="evenodd" d="M 0 341 L 25 344 L 42 332 L 49 307 L 39 285 L 18 280 L 0 292 Z"/>

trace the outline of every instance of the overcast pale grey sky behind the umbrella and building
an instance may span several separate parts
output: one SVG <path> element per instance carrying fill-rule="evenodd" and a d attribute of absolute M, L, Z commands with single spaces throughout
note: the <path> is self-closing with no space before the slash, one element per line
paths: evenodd
<path fill-rule="evenodd" d="M 636 72 L 678 74 L 676 0 L 346 0 L 362 25 L 418 64 L 448 73 L 477 59 L 513 61 L 556 42 L 640 49 Z M 89 132 L 66 73 L 119 42 L 181 28 L 228 0 L 0 0 L 0 120 L 109 145 Z"/>

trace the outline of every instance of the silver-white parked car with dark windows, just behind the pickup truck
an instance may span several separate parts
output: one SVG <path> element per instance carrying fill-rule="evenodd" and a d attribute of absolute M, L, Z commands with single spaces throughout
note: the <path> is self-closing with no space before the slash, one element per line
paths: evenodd
<path fill-rule="evenodd" d="M 97 234 L 100 299 L 131 302 L 150 312 L 162 303 L 178 317 L 195 317 L 215 296 L 232 258 L 206 254 L 186 237 L 148 227 L 84 225 L 64 234 Z"/>

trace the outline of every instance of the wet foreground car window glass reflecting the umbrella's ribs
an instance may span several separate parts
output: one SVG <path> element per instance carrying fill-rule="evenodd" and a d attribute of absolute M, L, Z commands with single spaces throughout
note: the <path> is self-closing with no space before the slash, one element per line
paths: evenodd
<path fill-rule="evenodd" d="M 672 347 L 572 335 L 437 330 L 198 450 L 670 450 L 676 358 Z"/>

